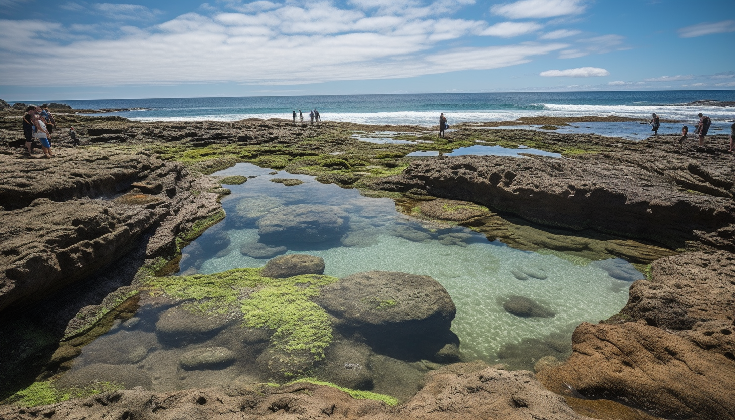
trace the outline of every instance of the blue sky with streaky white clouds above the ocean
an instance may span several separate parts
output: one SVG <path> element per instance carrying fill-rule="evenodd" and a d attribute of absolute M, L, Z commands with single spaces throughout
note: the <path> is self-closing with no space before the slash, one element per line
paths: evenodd
<path fill-rule="evenodd" d="M 0 99 L 735 88 L 735 1 L 0 0 Z"/>

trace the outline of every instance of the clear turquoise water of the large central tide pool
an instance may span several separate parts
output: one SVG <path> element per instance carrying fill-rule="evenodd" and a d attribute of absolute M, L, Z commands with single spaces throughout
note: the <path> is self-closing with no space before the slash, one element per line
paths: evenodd
<path fill-rule="evenodd" d="M 495 363 L 503 346 L 556 332 L 568 337 L 581 321 L 608 318 L 628 300 L 629 281 L 611 277 L 598 263 L 580 265 L 519 251 L 500 242 L 490 243 L 470 229 L 406 216 L 395 210 L 390 199 L 363 197 L 356 190 L 320 184 L 306 175 L 268 172 L 270 169 L 238 163 L 216 174 L 256 177 L 243 185 L 228 186 L 232 195 L 222 201 L 227 217 L 182 251 L 182 274 L 265 265 L 267 259 L 240 252 L 243 246 L 259 241 L 257 220 L 283 207 L 306 204 L 345 212 L 348 228 L 334 241 L 275 245 L 286 246 L 288 254 L 322 257 L 325 274 L 335 277 L 370 270 L 433 277 L 457 307 L 452 330 L 461 341 L 463 360 Z M 298 178 L 304 184 L 286 187 L 270 182 L 272 177 Z M 225 246 L 224 237 L 229 238 Z M 614 262 L 632 268 L 623 260 Z M 542 271 L 547 278 L 519 280 L 513 272 L 519 269 Z M 642 275 L 628 280 L 635 277 Z M 534 299 L 556 316 L 522 318 L 506 313 L 501 302 L 510 295 Z"/>

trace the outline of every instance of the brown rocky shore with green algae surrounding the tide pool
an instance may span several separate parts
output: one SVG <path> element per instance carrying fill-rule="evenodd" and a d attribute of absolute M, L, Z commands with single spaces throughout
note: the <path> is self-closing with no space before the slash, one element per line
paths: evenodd
<path fill-rule="evenodd" d="M 406 213 L 473 227 L 520 249 L 651 265 L 619 315 L 577 327 L 573 355 L 561 366 L 539 364 L 534 374 L 450 364 L 429 371 L 418 394 L 397 407 L 296 382 L 107 391 L 41 407 L 3 405 L 1 419 L 735 419 L 735 165 L 723 151 L 725 135 L 709 140 L 722 147 L 680 149 L 673 135 L 634 143 L 461 127 L 444 140 L 423 127 L 135 123 L 71 113 L 58 113 L 57 123 L 73 124 L 83 147 L 71 149 L 62 134 L 59 157 L 42 160 L 22 157 L 19 118 L 0 119 L 0 348 L 7 355 L 0 388 L 10 391 L 0 399 L 62 371 L 125 313 L 119 305 L 143 280 L 175 271 L 182 245 L 223 217 L 218 198 L 228 191 L 207 174 L 237 162 L 361 188 L 395 199 Z M 433 143 L 354 137 L 388 128 Z M 406 157 L 478 143 L 567 158 Z M 451 299 L 373 318 L 351 306 L 372 302 L 370 293 L 389 285 L 410 290 L 423 282 L 406 276 L 381 283 L 379 272 L 355 274 L 320 286 L 315 302 L 341 335 L 364 331 L 368 342 L 371 331 L 396 320 L 413 322 L 417 337 L 448 330 Z M 390 299 L 380 302 L 390 307 Z M 417 313 L 424 321 L 410 321 Z M 437 343 L 439 351 L 452 338 Z M 381 352 L 390 354 L 390 346 Z"/>

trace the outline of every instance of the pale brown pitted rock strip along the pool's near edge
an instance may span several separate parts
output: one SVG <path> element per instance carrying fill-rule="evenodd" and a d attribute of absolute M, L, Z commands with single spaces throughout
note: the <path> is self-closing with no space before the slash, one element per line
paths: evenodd
<path fill-rule="evenodd" d="M 528 371 L 454 365 L 427 375 L 427 385 L 406 405 L 387 407 L 322 385 L 111 391 L 87 399 L 34 408 L 0 407 L 6 420 L 82 419 L 363 419 L 363 420 L 583 420 L 564 399 L 545 390 Z"/>

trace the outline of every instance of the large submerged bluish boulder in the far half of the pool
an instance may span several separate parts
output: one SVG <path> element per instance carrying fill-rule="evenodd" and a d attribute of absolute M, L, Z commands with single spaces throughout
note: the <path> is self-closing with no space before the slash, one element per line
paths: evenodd
<path fill-rule="evenodd" d="M 299 204 L 260 218 L 258 234 L 270 245 L 337 241 L 345 234 L 348 219 L 337 207 Z"/>

